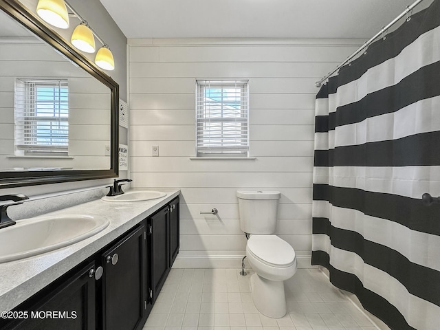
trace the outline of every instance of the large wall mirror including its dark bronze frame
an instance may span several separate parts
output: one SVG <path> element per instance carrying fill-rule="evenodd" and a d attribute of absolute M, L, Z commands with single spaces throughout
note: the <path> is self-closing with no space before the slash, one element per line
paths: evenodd
<path fill-rule="evenodd" d="M 0 188 L 118 176 L 118 84 L 0 0 Z"/>

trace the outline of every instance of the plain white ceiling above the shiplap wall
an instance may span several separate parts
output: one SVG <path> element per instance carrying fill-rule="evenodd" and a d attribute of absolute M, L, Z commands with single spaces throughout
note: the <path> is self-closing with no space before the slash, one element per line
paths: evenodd
<path fill-rule="evenodd" d="M 404 12 L 406 5 L 413 2 L 413 0 L 100 1 L 127 38 L 367 39 Z M 423 3 L 427 2 L 432 0 L 423 1 Z"/>

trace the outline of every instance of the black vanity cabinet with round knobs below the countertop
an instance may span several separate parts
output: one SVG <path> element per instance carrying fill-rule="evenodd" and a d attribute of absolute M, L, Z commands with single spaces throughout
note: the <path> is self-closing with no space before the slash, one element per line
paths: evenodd
<path fill-rule="evenodd" d="M 176 197 L 0 318 L 0 330 L 140 330 L 178 252 Z"/>

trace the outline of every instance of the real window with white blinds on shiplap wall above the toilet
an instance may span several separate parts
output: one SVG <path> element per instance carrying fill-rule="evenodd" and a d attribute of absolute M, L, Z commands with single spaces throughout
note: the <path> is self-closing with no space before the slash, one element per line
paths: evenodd
<path fill-rule="evenodd" d="M 197 157 L 248 157 L 248 80 L 197 80 L 196 95 Z"/>

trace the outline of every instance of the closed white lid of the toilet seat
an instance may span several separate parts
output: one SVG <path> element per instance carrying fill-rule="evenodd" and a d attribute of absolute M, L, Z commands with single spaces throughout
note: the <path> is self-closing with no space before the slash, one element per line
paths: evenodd
<path fill-rule="evenodd" d="M 288 267 L 295 261 L 295 250 L 276 235 L 251 235 L 248 250 L 268 265 Z"/>

